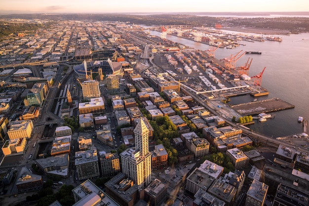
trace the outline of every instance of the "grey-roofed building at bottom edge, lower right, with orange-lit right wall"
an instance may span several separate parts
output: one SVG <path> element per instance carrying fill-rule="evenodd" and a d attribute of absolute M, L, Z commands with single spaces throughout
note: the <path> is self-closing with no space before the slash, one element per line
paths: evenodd
<path fill-rule="evenodd" d="M 245 206 L 264 206 L 267 190 L 268 185 L 254 179 L 247 192 Z"/>

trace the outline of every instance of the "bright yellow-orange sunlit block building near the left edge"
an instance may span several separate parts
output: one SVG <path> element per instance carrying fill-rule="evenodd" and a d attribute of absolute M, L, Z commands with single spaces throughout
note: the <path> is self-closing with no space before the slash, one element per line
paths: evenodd
<path fill-rule="evenodd" d="M 30 138 L 33 122 L 32 120 L 14 121 L 8 124 L 7 135 L 10 139 L 16 139 L 20 137 Z"/>

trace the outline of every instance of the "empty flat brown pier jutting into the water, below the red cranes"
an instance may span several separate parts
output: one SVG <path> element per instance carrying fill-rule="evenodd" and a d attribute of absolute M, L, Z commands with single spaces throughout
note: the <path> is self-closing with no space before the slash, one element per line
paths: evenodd
<path fill-rule="evenodd" d="M 294 108 L 295 105 L 284 102 L 278 98 L 273 98 L 269 100 L 262 100 L 250 103 L 241 103 L 232 105 L 231 108 L 239 112 L 243 116 L 256 115 L 260 113 L 270 113 L 274 111 L 280 111 L 284 109 Z"/>

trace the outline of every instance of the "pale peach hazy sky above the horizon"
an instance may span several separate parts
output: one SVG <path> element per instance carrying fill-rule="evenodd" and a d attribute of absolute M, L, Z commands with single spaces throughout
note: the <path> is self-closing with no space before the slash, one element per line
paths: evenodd
<path fill-rule="evenodd" d="M 0 0 L 0 13 L 309 11 L 309 0 Z"/>

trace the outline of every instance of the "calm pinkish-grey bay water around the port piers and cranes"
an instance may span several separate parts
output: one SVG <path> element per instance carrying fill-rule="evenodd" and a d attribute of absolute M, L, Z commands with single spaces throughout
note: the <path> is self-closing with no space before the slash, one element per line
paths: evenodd
<path fill-rule="evenodd" d="M 237 32 L 229 33 L 235 34 Z M 151 34 L 160 35 L 158 32 L 151 32 Z M 242 43 L 245 43 L 245 46 L 240 45 L 235 49 L 220 48 L 215 54 L 217 59 L 223 59 L 231 54 L 236 54 L 240 50 L 262 52 L 262 55 L 246 54 L 236 64 L 236 66 L 244 65 L 249 57 L 253 58 L 249 76 L 259 74 L 266 67 L 262 86 L 270 94 L 264 97 L 257 97 L 257 100 L 280 98 L 295 105 L 293 109 L 274 112 L 275 118 L 263 123 L 256 121 L 255 124 L 248 126 L 254 131 L 269 137 L 282 137 L 302 133 L 303 127 L 302 124 L 298 123 L 298 117 L 309 118 L 309 79 L 306 75 L 309 73 L 309 59 L 307 57 L 309 53 L 309 34 L 276 36 L 281 37 L 283 41 L 243 41 Z M 172 35 L 167 35 L 166 38 L 195 49 L 207 50 L 210 48 L 209 45 Z M 249 95 L 234 97 L 231 98 L 230 103 L 251 102 L 253 99 Z"/>

